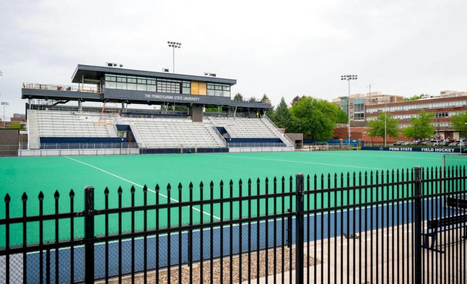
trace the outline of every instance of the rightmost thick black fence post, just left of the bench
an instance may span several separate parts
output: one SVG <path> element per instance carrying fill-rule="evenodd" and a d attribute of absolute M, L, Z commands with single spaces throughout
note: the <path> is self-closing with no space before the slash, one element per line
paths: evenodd
<path fill-rule="evenodd" d="M 414 240 L 413 245 L 414 249 L 414 256 L 413 256 L 413 263 L 415 264 L 415 271 L 414 271 L 414 278 L 415 284 L 422 283 L 422 206 L 421 206 L 421 167 L 415 167 L 415 192 L 414 192 Z"/>

